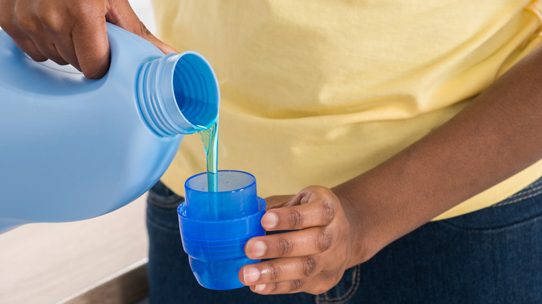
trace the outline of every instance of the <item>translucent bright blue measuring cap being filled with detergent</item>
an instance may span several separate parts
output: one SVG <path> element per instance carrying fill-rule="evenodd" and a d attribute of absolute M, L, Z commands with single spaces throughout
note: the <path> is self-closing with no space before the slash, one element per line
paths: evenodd
<path fill-rule="evenodd" d="M 244 286 L 238 278 L 241 267 L 260 262 L 245 255 L 245 244 L 252 237 L 265 235 L 261 226 L 265 201 L 256 195 L 256 180 L 251 174 L 242 171 L 218 171 L 218 174 L 219 192 L 201 191 L 207 183 L 202 174 L 186 181 L 187 201 L 177 209 L 179 228 L 199 285 L 217 290 L 235 289 Z M 205 204 L 214 206 L 202 208 Z M 201 210 L 210 212 L 195 212 Z"/>

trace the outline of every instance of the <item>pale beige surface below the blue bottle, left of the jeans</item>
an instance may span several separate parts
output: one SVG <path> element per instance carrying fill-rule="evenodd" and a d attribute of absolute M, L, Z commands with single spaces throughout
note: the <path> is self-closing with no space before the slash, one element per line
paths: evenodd
<path fill-rule="evenodd" d="M 72 223 L 33 223 L 0 235 L 0 303 L 63 303 L 147 258 L 146 195 Z"/>

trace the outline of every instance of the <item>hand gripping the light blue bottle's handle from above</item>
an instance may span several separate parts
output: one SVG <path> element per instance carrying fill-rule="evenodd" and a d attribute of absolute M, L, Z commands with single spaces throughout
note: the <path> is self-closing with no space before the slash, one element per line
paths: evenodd
<path fill-rule="evenodd" d="M 175 50 L 149 33 L 128 0 L 0 0 L 0 26 L 33 60 L 73 65 L 87 78 L 109 67 L 106 22 Z"/>

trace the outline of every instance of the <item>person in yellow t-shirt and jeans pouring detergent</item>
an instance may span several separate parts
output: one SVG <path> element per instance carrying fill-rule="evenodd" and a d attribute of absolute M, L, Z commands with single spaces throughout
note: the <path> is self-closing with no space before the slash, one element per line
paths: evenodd
<path fill-rule="evenodd" d="M 151 302 L 542 301 L 542 1 L 154 9 L 167 44 L 125 0 L 0 0 L 28 56 L 88 78 L 107 71 L 106 21 L 213 65 L 220 169 L 256 176 L 272 233 L 245 245 L 263 259 L 240 269 L 249 288 L 197 286 L 175 208 L 205 166 L 186 137 L 149 193 Z"/>

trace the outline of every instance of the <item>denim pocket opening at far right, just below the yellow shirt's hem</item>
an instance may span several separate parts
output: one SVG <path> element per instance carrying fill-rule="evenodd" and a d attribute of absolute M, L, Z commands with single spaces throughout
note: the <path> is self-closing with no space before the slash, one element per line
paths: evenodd
<path fill-rule="evenodd" d="M 495 205 L 438 221 L 466 230 L 502 230 L 542 220 L 542 178 Z"/>

